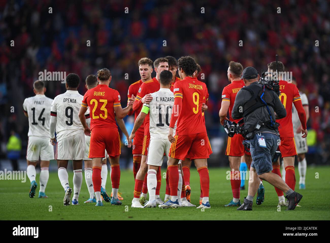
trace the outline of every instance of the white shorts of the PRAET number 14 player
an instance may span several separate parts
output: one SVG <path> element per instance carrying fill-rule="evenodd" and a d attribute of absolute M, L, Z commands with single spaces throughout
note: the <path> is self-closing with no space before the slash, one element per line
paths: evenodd
<path fill-rule="evenodd" d="M 50 144 L 48 138 L 31 136 L 28 138 L 26 159 L 32 162 L 39 160 L 54 159 L 54 146 Z"/>

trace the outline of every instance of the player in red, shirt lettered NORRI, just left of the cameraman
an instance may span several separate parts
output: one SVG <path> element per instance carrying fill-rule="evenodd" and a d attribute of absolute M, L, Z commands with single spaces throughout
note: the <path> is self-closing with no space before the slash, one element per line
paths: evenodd
<path fill-rule="evenodd" d="M 227 111 L 229 109 L 229 121 L 238 123 L 241 119 L 234 120 L 231 116 L 234 102 L 238 91 L 244 87 L 244 82 L 241 79 L 243 72 L 243 66 L 239 62 L 230 61 L 227 70 L 227 76 L 230 84 L 224 87 L 222 91 L 222 102 L 219 111 L 220 123 L 224 124 L 224 120 L 228 120 Z M 250 167 L 252 158 L 251 154 L 244 149 L 243 136 L 241 134 L 235 134 L 234 137 L 228 137 L 226 155 L 228 155 L 229 166 L 230 166 L 230 184 L 233 193 L 233 199 L 225 207 L 241 206 L 240 202 L 240 187 L 241 187 L 241 176 L 240 176 L 240 164 L 241 157 L 244 155 L 245 161 Z M 262 182 L 260 184 L 262 186 Z M 263 187 L 263 186 L 262 186 Z M 259 192 L 259 190 L 258 190 Z M 258 197 L 257 197 L 258 198 Z M 258 203 L 257 203 L 258 204 Z"/>

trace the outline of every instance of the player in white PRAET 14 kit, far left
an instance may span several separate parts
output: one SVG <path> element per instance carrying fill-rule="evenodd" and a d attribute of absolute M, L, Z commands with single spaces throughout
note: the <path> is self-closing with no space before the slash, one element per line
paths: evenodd
<path fill-rule="evenodd" d="M 40 157 L 40 198 L 47 198 L 45 189 L 49 178 L 49 160 L 54 159 L 53 146 L 49 144 L 50 104 L 53 101 L 45 96 L 43 81 L 33 84 L 33 97 L 26 98 L 23 103 L 24 115 L 29 118 L 28 144 L 26 151 L 26 174 L 31 182 L 29 197 L 35 196 L 37 188 L 36 164 Z"/>

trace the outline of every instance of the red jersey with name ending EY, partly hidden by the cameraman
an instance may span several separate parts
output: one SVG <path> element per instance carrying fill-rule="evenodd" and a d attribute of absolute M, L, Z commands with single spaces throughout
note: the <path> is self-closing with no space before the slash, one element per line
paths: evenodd
<path fill-rule="evenodd" d="M 286 110 L 286 117 L 276 120 L 280 123 L 280 137 L 294 137 L 292 126 L 292 103 L 300 101 L 300 94 L 297 86 L 287 81 L 280 80 L 280 100 Z"/>

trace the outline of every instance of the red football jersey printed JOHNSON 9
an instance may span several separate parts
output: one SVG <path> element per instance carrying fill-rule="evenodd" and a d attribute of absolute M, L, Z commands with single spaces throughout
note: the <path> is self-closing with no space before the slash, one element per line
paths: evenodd
<path fill-rule="evenodd" d="M 175 99 L 182 99 L 181 111 L 178 116 L 176 135 L 189 135 L 206 132 L 202 115 L 202 104 L 205 99 L 205 83 L 197 78 L 185 77 L 174 84 Z M 173 109 L 175 111 L 175 109 Z M 172 117 L 173 117 L 172 113 Z M 175 119 L 170 122 L 174 127 Z M 173 122 L 172 122 L 173 120 Z"/>

